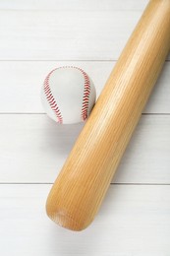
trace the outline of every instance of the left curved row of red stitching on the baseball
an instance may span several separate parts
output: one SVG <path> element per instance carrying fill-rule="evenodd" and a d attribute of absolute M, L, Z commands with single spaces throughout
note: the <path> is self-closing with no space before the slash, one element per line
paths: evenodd
<path fill-rule="evenodd" d="M 59 123 L 63 123 L 63 117 L 62 117 L 62 114 L 60 112 L 60 109 L 57 105 L 57 102 L 54 98 L 54 96 L 52 95 L 52 92 L 51 92 L 51 89 L 50 89 L 50 86 L 49 86 L 49 77 L 50 75 L 55 71 L 56 69 L 52 70 L 48 76 L 46 77 L 45 81 L 44 81 L 44 84 L 43 84 L 43 89 L 44 89 L 44 93 L 45 93 L 45 96 L 49 102 L 49 105 L 51 106 L 51 109 L 54 111 L 54 113 L 56 114 L 57 116 L 57 119 L 58 119 L 58 122 Z"/>

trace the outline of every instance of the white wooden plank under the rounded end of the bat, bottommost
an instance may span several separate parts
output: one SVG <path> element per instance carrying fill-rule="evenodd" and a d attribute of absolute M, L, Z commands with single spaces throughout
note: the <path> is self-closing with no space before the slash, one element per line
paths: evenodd
<path fill-rule="evenodd" d="M 50 185 L 0 186 L 2 255 L 167 256 L 170 186 L 112 185 L 94 222 L 82 232 L 45 214 Z"/>

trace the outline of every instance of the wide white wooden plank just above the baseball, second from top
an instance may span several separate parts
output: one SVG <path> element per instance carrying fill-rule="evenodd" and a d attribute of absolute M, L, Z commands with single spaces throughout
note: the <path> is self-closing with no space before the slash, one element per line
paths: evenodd
<path fill-rule="evenodd" d="M 0 60 L 117 60 L 142 11 L 0 11 Z"/>

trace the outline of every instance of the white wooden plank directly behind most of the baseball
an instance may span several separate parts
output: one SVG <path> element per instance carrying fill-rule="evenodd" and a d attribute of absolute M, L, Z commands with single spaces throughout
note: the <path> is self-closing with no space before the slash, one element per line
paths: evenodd
<path fill-rule="evenodd" d="M 44 113 L 40 89 L 46 75 L 58 66 L 83 68 L 99 96 L 114 65 L 115 61 L 0 61 L 0 112 Z M 166 62 L 144 113 L 170 113 L 169 74 L 170 62 Z"/>

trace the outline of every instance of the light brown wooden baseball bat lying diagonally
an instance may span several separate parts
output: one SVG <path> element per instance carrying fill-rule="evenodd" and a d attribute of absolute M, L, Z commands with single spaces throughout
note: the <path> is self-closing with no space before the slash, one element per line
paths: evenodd
<path fill-rule="evenodd" d="M 170 0 L 151 0 L 47 199 L 57 224 L 94 219 L 170 49 Z"/>

